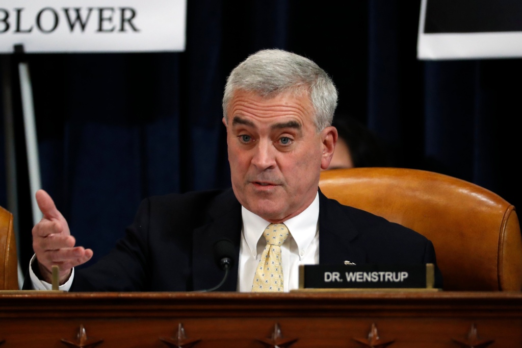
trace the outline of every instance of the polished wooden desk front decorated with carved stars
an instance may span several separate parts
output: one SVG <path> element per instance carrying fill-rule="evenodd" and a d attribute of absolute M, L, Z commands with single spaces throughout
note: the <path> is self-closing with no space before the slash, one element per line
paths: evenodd
<path fill-rule="evenodd" d="M 176 341 L 180 323 L 186 340 Z M 271 341 L 279 324 L 282 339 Z M 371 342 L 374 324 L 379 341 Z M 472 326 L 489 347 L 522 347 L 520 293 L 6 293 L 0 348 L 66 347 L 80 326 L 97 347 L 454 347 Z M 269 343 L 259 340 L 265 339 Z M 285 345 L 283 340 L 293 340 Z M 360 339 L 366 345 L 355 341 Z M 378 345 L 393 340 L 389 345 Z M 281 343 L 282 342 L 282 343 Z M 85 342 L 84 342 L 85 343 Z M 89 342 L 87 342 L 89 343 Z M 187 343 L 187 344 L 184 344 Z M 74 346 L 74 345 L 73 345 Z M 78 344 L 77 346 L 81 346 Z M 83 346 L 88 346 L 84 344 Z M 91 345 L 94 346 L 94 345 Z M 481 346 L 469 341 L 468 346 Z"/>

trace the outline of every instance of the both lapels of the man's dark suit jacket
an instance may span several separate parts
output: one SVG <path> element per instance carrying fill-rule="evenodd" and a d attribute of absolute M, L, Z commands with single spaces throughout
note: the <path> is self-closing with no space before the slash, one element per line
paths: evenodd
<path fill-rule="evenodd" d="M 241 205 L 232 190 L 221 194 L 209 208 L 209 222 L 193 231 L 193 285 L 194 290 L 218 285 L 224 271 L 217 265 L 212 247 L 229 239 L 235 250 L 235 260 L 227 281 L 219 291 L 236 291 L 238 284 L 239 247 L 241 242 Z M 366 263 L 366 252 L 358 246 L 359 230 L 349 214 L 334 200 L 319 191 L 319 263 Z"/>

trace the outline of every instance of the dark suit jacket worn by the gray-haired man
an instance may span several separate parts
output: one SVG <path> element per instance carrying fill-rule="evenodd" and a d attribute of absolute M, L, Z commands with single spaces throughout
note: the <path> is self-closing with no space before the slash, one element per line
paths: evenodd
<path fill-rule="evenodd" d="M 233 241 L 235 262 L 219 291 L 235 291 L 241 205 L 231 189 L 145 199 L 126 236 L 108 256 L 77 270 L 70 291 L 196 291 L 216 286 L 222 271 L 212 247 Z M 384 218 L 319 192 L 319 262 L 435 263 L 432 243 Z M 438 271 L 437 271 L 437 274 Z M 442 285 L 442 277 L 437 277 Z"/>

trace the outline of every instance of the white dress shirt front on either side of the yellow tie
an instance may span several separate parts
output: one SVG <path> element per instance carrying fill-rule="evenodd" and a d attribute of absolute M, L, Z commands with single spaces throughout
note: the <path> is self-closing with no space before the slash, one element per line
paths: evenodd
<path fill-rule="evenodd" d="M 266 246 L 263 231 L 268 221 L 241 207 L 243 229 L 239 252 L 238 291 L 251 292 L 254 274 Z M 288 238 L 281 246 L 283 288 L 299 287 L 299 265 L 319 263 L 319 193 L 301 214 L 284 222 Z"/>

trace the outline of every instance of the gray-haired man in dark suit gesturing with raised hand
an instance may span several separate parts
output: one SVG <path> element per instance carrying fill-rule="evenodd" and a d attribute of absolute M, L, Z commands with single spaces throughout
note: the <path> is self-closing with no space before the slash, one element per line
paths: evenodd
<path fill-rule="evenodd" d="M 289 291 L 300 264 L 436 263 L 423 236 L 318 191 L 337 141 L 336 106 L 335 86 L 314 62 L 280 50 L 249 56 L 233 69 L 223 97 L 232 189 L 144 200 L 115 249 L 76 274 L 92 250 L 74 246 L 67 222 L 39 191 L 44 217 L 33 228 L 26 287 L 47 288 L 56 264 L 63 289 L 72 291 L 208 289 L 223 276 L 212 252 L 223 238 L 236 261 L 222 291 Z M 272 224 L 287 231 L 280 246 L 265 241 Z M 271 257 L 281 266 L 271 276 L 281 282 L 257 287 L 257 277 L 269 281 L 263 267 Z"/>

